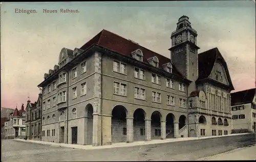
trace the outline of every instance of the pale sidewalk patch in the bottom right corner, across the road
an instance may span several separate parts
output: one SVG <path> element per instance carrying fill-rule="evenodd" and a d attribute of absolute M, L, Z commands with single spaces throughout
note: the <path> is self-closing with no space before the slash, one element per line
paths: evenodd
<path fill-rule="evenodd" d="M 203 157 L 197 160 L 256 160 L 256 145 L 234 149 L 225 153 Z"/>

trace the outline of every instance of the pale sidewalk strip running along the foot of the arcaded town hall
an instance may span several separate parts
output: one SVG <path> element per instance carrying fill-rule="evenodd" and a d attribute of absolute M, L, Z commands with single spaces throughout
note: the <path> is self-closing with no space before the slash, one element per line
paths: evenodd
<path fill-rule="evenodd" d="M 248 134 L 248 133 L 206 136 L 206 137 L 168 138 L 166 140 L 136 141 L 133 143 L 114 143 L 112 145 L 103 145 L 103 146 L 73 145 L 73 144 L 63 144 L 63 143 L 53 143 L 53 142 L 23 140 L 23 139 L 14 139 L 13 141 L 37 143 L 37 144 L 49 145 L 53 147 L 68 147 L 68 148 L 74 148 L 74 149 L 93 150 L 93 149 L 108 149 L 108 148 L 120 148 L 120 147 L 133 147 L 133 146 L 141 146 L 141 145 L 163 144 L 163 143 L 172 143 L 172 142 L 179 142 L 179 141 L 202 140 L 206 138 L 218 138 L 223 136 L 242 135 L 242 134 Z"/>

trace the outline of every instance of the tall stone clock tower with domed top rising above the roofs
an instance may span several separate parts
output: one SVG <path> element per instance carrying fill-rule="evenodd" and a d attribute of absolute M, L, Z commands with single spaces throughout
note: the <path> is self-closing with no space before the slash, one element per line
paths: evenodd
<path fill-rule="evenodd" d="M 170 61 L 176 66 L 178 71 L 192 81 L 188 86 L 188 96 L 197 89 L 196 80 L 198 78 L 198 49 L 197 31 L 191 27 L 188 17 L 183 15 L 179 18 L 176 31 L 172 32 L 172 47 L 170 51 Z"/>

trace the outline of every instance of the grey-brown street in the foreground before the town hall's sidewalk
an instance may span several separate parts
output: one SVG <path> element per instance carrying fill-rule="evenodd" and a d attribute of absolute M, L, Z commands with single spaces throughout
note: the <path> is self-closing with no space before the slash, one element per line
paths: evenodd
<path fill-rule="evenodd" d="M 197 160 L 237 147 L 233 144 L 212 143 L 206 145 L 204 143 L 202 140 L 197 140 L 124 148 L 81 150 L 3 140 L 2 161 Z"/>

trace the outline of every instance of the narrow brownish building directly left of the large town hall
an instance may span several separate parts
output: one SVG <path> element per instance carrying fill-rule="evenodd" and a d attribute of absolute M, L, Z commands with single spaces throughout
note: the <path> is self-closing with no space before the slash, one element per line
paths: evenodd
<path fill-rule="evenodd" d="M 27 102 L 26 136 L 28 140 L 41 141 L 42 94 L 35 103 Z"/>

